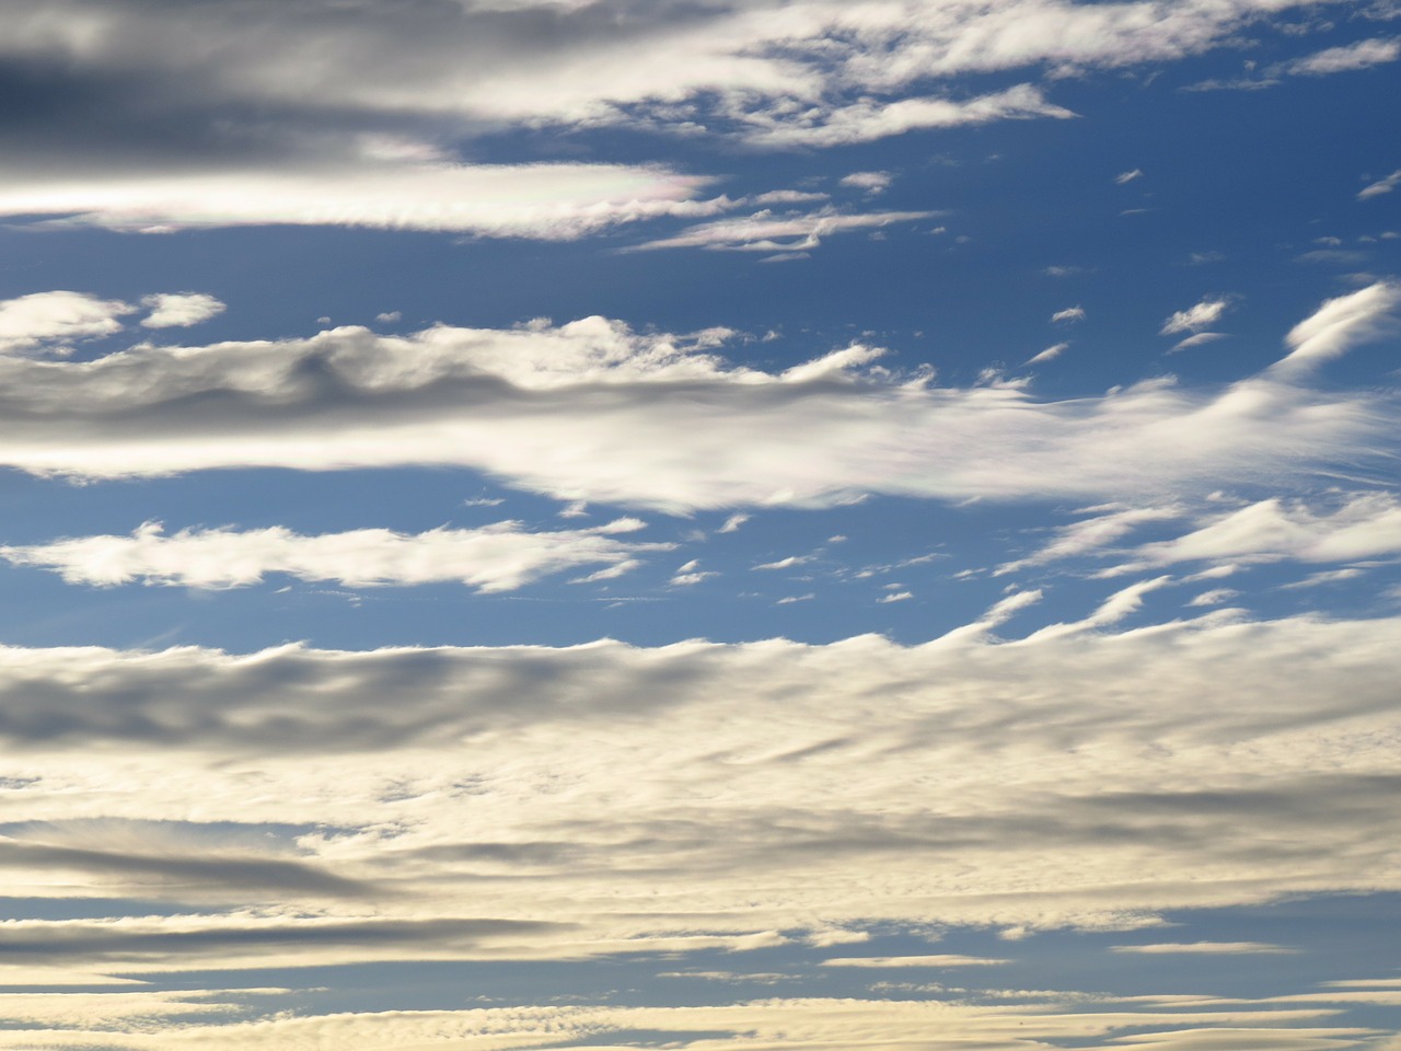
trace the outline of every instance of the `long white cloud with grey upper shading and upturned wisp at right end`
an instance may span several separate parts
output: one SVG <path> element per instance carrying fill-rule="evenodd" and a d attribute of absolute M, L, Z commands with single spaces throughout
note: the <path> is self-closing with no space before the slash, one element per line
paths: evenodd
<path fill-rule="evenodd" d="M 1065 401 L 1024 383 L 937 387 L 859 345 L 765 373 L 717 357 L 724 332 L 602 318 L 6 357 L 0 464 L 83 478 L 451 464 L 566 502 L 674 511 L 1210 492 L 1386 453 L 1388 395 L 1304 380 L 1384 331 L 1395 303 L 1390 284 L 1332 300 L 1293 329 L 1283 363 L 1219 390 L 1159 378 Z"/>

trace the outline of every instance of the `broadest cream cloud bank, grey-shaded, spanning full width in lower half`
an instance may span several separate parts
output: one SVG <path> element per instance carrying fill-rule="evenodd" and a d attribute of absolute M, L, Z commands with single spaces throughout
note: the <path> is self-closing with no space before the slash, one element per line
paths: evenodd
<path fill-rule="evenodd" d="M 1401 625 L 1115 629 L 1153 583 L 1097 626 L 1003 640 L 1020 593 L 918 646 L 4 647 L 0 737 L 43 778 L 7 799 L 8 893 L 228 911 L 0 943 L 126 970 L 580 959 L 1397 890 Z"/>

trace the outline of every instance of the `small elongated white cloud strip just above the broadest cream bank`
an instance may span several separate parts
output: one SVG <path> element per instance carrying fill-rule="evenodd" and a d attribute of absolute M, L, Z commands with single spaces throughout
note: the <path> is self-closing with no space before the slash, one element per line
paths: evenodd
<path fill-rule="evenodd" d="M 17 566 L 56 570 L 69 583 L 99 587 L 137 580 L 177 587 L 248 587 L 269 573 L 286 573 L 300 580 L 335 580 L 343 587 L 460 580 L 479 591 L 513 591 L 546 575 L 597 562 L 623 570 L 637 565 L 635 556 L 640 552 L 675 547 L 616 538 L 643 526 L 637 518 L 618 518 L 588 530 L 532 533 L 523 523 L 500 521 L 474 530 L 352 530 L 307 537 L 280 526 L 165 535 L 160 523 L 149 521 L 130 537 L 0 547 L 0 558 Z"/>

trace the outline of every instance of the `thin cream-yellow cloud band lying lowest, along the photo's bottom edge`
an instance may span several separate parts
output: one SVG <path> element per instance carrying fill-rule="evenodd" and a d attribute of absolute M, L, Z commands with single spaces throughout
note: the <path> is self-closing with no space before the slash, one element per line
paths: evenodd
<path fill-rule="evenodd" d="M 637 1031 L 675 1036 L 695 1051 L 827 1051 L 828 1048 L 920 1047 L 961 1051 L 998 1047 L 1007 1051 L 1048 1051 L 1068 1043 L 1143 1041 L 1145 1045 L 1189 1048 L 1238 1038 L 1243 1047 L 1348 1048 L 1367 1030 L 1323 1029 L 1327 1010 L 1250 1008 L 1125 1009 L 1119 1003 L 1077 1003 L 1055 994 L 1019 1006 L 978 1006 L 911 999 L 769 998 L 738 1003 L 668 1006 L 541 1006 L 478 1008 L 467 1010 L 398 1010 L 319 1016 L 287 1013 L 254 1022 L 205 1023 L 186 1020 L 164 1031 L 150 1026 L 102 1024 L 94 1020 L 90 1038 L 108 1036 L 139 1051 L 178 1048 L 300 1048 L 338 1051 L 381 1048 L 443 1048 L 448 1051 L 514 1051 L 567 1041 L 590 1051 L 626 1051 Z M 1311 1024 L 1310 1024 L 1311 1023 Z M 1147 1027 L 1153 1031 L 1121 1036 Z M 71 1047 L 73 1031 L 29 1030 L 25 1047 Z M 1274 1037 L 1275 1044 L 1265 1041 Z"/>

